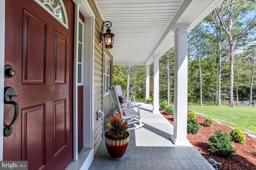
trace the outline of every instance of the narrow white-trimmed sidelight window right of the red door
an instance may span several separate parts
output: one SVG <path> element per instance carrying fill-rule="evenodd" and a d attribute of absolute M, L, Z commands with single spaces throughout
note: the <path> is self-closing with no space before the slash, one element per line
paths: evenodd
<path fill-rule="evenodd" d="M 79 18 L 78 23 L 78 86 L 83 85 L 84 79 L 84 22 Z"/>

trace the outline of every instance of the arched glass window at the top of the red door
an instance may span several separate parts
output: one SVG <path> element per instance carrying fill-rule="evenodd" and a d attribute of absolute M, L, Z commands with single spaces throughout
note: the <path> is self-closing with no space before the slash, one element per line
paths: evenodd
<path fill-rule="evenodd" d="M 62 0 L 34 0 L 68 29 L 68 16 Z"/>

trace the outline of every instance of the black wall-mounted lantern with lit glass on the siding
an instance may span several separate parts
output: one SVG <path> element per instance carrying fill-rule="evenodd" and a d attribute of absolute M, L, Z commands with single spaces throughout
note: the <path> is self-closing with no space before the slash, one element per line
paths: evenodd
<path fill-rule="evenodd" d="M 107 26 L 108 29 L 106 30 L 107 31 L 106 33 L 102 34 L 104 26 Z M 104 23 L 102 23 L 101 31 L 98 31 L 99 43 L 101 43 L 103 41 L 103 37 L 104 37 L 105 47 L 107 49 L 111 49 L 113 47 L 113 43 L 114 43 L 115 35 L 113 33 L 111 33 L 111 30 L 109 29 L 111 26 L 112 26 L 112 23 L 110 21 L 105 21 Z"/>

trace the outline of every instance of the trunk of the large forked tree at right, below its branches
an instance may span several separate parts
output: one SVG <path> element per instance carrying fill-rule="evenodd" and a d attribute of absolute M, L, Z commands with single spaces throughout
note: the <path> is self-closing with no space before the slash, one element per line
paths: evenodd
<path fill-rule="evenodd" d="M 229 105 L 234 107 L 234 43 L 230 41 L 230 63 L 229 63 Z"/>

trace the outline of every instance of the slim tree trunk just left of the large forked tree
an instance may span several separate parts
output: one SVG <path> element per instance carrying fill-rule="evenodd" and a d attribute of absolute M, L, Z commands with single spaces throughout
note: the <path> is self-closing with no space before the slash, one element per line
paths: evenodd
<path fill-rule="evenodd" d="M 221 83 L 221 70 L 222 70 L 222 57 L 221 57 L 221 38 L 222 38 L 222 33 L 220 31 L 220 37 L 218 40 L 218 96 L 217 96 L 217 106 L 221 106 L 221 88 L 220 88 L 220 83 Z"/>

